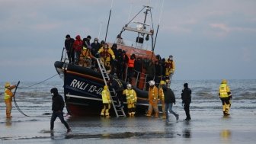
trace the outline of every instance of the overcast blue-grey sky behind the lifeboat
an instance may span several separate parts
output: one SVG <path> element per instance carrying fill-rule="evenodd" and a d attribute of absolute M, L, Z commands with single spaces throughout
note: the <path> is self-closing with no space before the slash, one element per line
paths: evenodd
<path fill-rule="evenodd" d="M 142 5 L 153 7 L 160 26 L 155 53 L 174 56 L 174 79 L 256 78 L 255 0 L 165 0 L 161 16 L 162 0 L 114 0 L 108 42 Z M 110 6 L 111 0 L 0 0 L 0 82 L 55 75 L 66 34 L 94 38 L 102 25 L 103 40 Z"/>

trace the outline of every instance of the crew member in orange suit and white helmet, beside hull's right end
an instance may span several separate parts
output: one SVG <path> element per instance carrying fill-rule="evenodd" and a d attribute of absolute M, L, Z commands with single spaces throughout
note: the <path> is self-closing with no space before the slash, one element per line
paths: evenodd
<path fill-rule="evenodd" d="M 150 117 L 152 115 L 152 110 L 154 109 L 155 117 L 158 117 L 158 88 L 155 86 L 155 81 L 149 81 L 149 110 L 146 116 Z"/>

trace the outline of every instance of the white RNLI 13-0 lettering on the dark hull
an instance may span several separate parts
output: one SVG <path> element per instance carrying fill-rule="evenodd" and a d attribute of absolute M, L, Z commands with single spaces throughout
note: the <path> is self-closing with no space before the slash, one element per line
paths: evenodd
<path fill-rule="evenodd" d="M 89 83 L 78 81 L 77 79 L 73 79 L 69 86 L 96 94 L 101 94 L 101 91 L 103 90 L 103 88 L 98 88 L 96 85 L 90 85 Z"/>

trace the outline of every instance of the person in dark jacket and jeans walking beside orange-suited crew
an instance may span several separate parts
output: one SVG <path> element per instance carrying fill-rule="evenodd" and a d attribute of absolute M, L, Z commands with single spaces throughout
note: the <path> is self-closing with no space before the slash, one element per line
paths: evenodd
<path fill-rule="evenodd" d="M 168 120 L 168 110 L 171 114 L 173 114 L 176 117 L 176 120 L 178 120 L 178 114 L 176 114 L 172 110 L 173 104 L 176 103 L 174 92 L 171 90 L 171 88 L 167 88 L 167 85 L 161 85 L 163 92 L 165 94 L 165 114 L 166 114 L 166 120 Z"/>

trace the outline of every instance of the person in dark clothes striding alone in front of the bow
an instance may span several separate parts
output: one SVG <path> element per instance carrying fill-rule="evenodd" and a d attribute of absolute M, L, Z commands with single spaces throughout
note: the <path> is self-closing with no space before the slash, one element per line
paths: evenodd
<path fill-rule="evenodd" d="M 59 120 L 66 126 L 67 129 L 67 133 L 71 132 L 71 129 L 69 127 L 69 124 L 66 123 L 66 121 L 64 120 L 63 117 L 63 108 L 64 108 L 64 101 L 61 95 L 59 95 L 58 93 L 58 89 L 57 88 L 52 88 L 50 90 L 50 92 L 52 93 L 52 100 L 53 100 L 53 104 L 52 104 L 52 110 L 53 110 L 53 114 L 50 120 L 50 130 L 53 131 L 54 128 L 54 121 L 56 120 L 57 117 L 59 117 Z"/>

